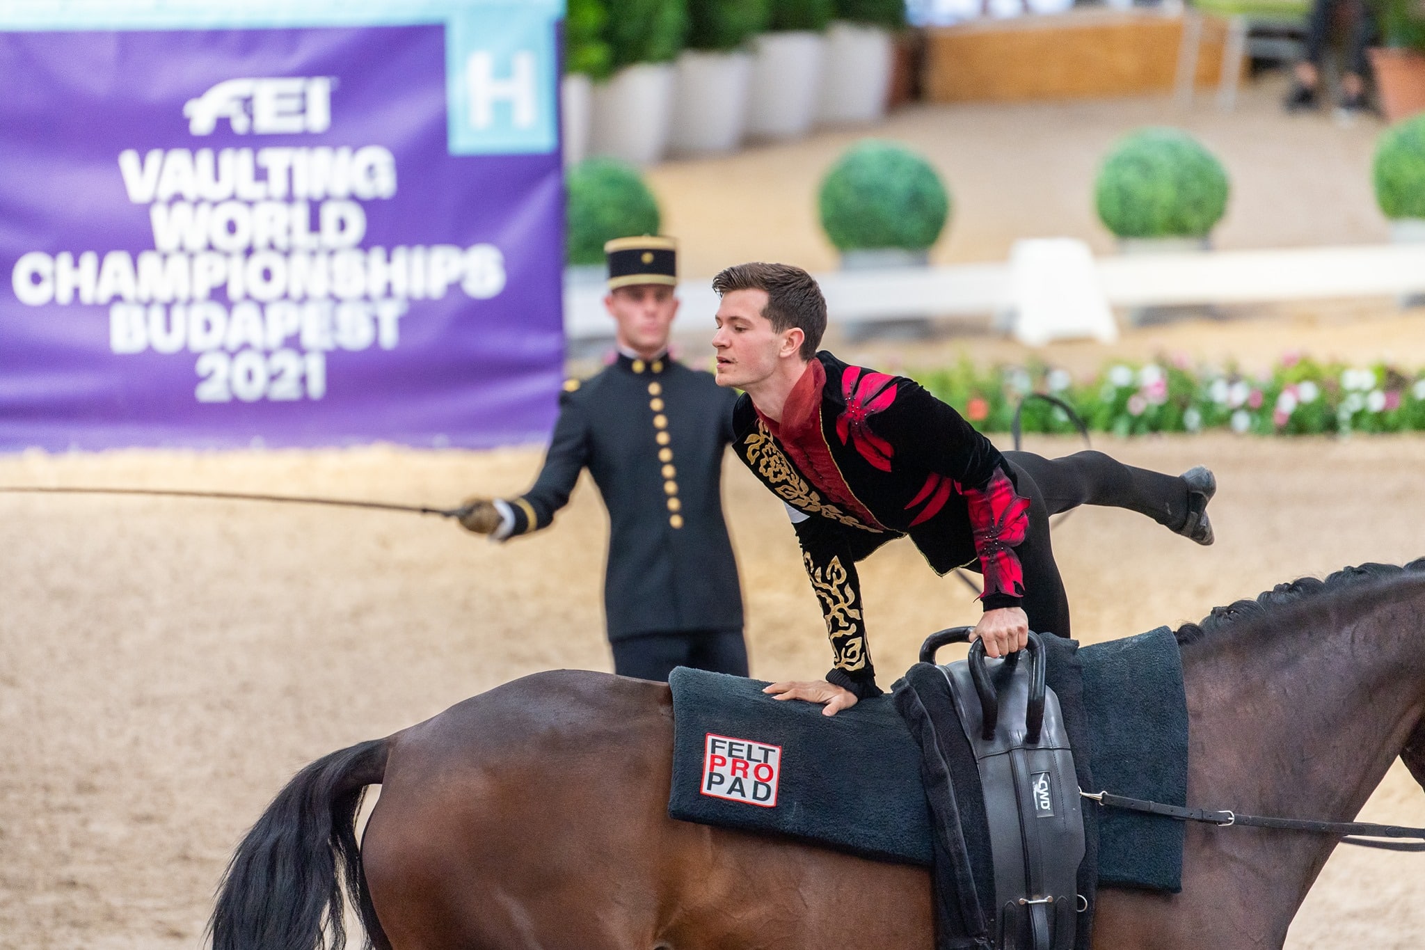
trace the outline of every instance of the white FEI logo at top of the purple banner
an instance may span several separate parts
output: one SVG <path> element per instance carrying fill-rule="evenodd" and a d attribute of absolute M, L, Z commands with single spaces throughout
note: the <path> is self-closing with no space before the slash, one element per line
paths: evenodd
<path fill-rule="evenodd" d="M 332 127 L 331 75 L 224 80 L 184 103 L 188 132 L 211 135 L 218 120 L 238 135 L 325 132 Z"/>

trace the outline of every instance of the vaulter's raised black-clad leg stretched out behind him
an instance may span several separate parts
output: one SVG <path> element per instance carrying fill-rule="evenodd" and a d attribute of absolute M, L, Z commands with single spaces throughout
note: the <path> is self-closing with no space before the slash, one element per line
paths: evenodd
<path fill-rule="evenodd" d="M 1213 543 L 1207 503 L 1217 491 L 1217 480 L 1203 466 L 1168 476 L 1092 450 L 1062 459 L 1032 451 L 1006 451 L 1005 457 L 1035 480 L 1049 514 L 1080 504 L 1129 508 L 1198 544 Z"/>

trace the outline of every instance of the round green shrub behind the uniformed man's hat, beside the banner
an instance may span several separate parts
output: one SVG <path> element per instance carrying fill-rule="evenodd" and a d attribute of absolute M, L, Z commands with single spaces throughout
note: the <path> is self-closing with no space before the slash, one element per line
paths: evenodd
<path fill-rule="evenodd" d="M 658 201 L 631 165 L 589 158 L 564 177 L 569 263 L 604 262 L 604 242 L 658 234 Z"/>

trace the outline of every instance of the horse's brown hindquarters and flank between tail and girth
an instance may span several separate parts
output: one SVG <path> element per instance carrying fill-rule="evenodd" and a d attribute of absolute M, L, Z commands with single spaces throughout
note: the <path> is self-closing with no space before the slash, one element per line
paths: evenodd
<path fill-rule="evenodd" d="M 664 684 L 536 674 L 390 743 L 362 850 L 398 950 L 929 946 L 921 869 L 670 819 Z"/>

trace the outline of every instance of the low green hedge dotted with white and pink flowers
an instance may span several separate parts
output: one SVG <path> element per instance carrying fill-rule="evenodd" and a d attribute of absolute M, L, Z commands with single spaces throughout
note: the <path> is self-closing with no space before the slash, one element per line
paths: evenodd
<path fill-rule="evenodd" d="M 1093 432 L 1117 436 L 1227 430 L 1260 436 L 1425 432 L 1425 370 L 1387 363 L 1348 366 L 1284 359 L 1273 372 L 1186 362 L 1114 363 L 1087 379 L 1045 365 L 956 366 L 911 373 L 976 429 L 1009 432 L 1025 395 L 1057 396 Z M 1043 400 L 1025 403 L 1023 430 L 1072 434 L 1069 416 Z"/>

